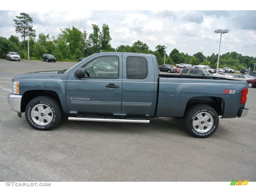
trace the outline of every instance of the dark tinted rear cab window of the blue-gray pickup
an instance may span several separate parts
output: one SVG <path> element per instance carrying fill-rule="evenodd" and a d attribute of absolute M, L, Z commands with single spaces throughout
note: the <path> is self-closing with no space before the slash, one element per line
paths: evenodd
<path fill-rule="evenodd" d="M 145 79 L 147 77 L 147 60 L 143 57 L 127 57 L 127 79 Z"/>

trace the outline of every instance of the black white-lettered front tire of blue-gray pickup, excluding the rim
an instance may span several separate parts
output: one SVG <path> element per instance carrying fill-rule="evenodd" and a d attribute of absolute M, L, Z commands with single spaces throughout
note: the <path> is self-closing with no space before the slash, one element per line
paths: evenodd
<path fill-rule="evenodd" d="M 52 110 L 52 120 L 50 123 L 47 125 L 39 125 L 33 121 L 33 118 L 31 117 L 31 110 L 33 107 L 37 104 L 44 104 L 48 106 Z M 33 127 L 36 130 L 51 130 L 54 127 L 58 125 L 61 119 L 61 111 L 60 111 L 60 106 L 58 105 L 57 101 L 52 99 L 51 97 L 47 96 L 39 96 L 31 100 L 25 110 L 25 116 L 26 120 L 29 123 L 31 127 Z"/>

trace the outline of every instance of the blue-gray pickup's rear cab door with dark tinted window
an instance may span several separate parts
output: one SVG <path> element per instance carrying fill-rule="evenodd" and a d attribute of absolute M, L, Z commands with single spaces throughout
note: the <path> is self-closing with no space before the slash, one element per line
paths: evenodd
<path fill-rule="evenodd" d="M 152 115 L 157 86 L 154 73 L 151 55 L 123 53 L 122 115 Z"/>

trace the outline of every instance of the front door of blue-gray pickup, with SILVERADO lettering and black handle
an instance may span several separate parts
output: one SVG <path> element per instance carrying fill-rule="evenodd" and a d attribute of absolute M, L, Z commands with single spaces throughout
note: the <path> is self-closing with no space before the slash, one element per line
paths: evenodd
<path fill-rule="evenodd" d="M 82 66 L 85 77 L 78 79 L 70 72 L 66 100 L 70 113 L 120 115 L 122 99 L 122 53 L 99 56 Z M 118 70 L 108 64 L 118 63 Z M 82 61 L 81 61 L 82 62 Z M 104 68 L 97 64 L 103 63 Z"/>

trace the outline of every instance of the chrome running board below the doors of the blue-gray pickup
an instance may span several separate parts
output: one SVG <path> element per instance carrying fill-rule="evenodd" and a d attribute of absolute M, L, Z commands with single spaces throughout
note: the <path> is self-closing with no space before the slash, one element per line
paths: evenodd
<path fill-rule="evenodd" d="M 73 121 L 101 121 L 101 122 L 122 122 L 122 123 L 149 123 L 148 119 L 114 119 L 114 118 L 95 118 L 95 117 L 69 117 Z"/>

